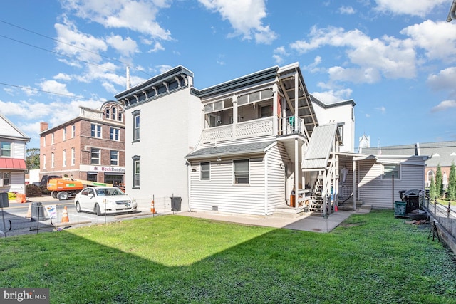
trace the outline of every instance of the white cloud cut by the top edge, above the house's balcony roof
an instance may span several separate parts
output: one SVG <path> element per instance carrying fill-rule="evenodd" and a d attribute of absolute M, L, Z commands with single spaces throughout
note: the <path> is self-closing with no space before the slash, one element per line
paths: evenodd
<path fill-rule="evenodd" d="M 198 0 L 206 9 L 218 12 L 229 21 L 234 33 L 243 39 L 254 38 L 257 43 L 270 44 L 277 34 L 261 21 L 266 17 L 264 0 Z"/>

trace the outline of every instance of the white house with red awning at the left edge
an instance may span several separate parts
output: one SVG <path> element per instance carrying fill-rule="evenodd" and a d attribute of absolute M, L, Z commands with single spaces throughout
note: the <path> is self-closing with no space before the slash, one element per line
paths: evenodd
<path fill-rule="evenodd" d="M 0 114 L 0 192 L 25 194 L 26 143 L 30 141 Z"/>

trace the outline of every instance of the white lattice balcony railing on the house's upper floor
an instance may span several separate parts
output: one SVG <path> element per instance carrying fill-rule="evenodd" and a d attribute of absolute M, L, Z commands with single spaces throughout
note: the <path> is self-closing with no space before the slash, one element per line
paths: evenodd
<path fill-rule="evenodd" d="M 274 135 L 273 119 L 274 117 L 265 117 L 237 124 L 209 127 L 202 132 L 202 142 L 224 142 Z M 294 123 L 294 116 L 279 118 L 278 126 L 276 135 L 304 134 L 304 120 L 301 118 L 298 118 L 296 123 Z"/>

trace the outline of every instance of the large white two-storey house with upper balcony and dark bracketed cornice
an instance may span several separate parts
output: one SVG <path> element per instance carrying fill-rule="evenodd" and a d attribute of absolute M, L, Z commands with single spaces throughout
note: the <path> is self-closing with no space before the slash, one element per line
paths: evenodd
<path fill-rule="evenodd" d="M 299 63 L 202 90 L 178 66 L 115 98 L 125 105 L 126 189 L 135 196 L 254 216 L 331 211 L 323 204 L 349 199 L 387 206 L 368 186 L 388 179 L 390 162 L 353 151 L 354 101 L 309 94 Z M 419 159 L 404 165 L 412 162 L 424 168 Z"/>

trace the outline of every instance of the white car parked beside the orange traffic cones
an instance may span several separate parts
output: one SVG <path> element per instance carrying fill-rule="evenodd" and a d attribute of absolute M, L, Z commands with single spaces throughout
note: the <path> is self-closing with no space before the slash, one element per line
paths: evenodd
<path fill-rule="evenodd" d="M 135 199 L 116 187 L 87 187 L 74 198 L 76 211 L 89 211 L 97 215 L 133 212 L 138 209 Z"/>

